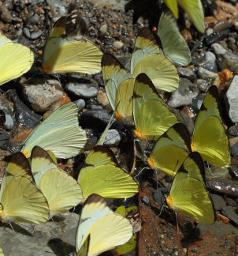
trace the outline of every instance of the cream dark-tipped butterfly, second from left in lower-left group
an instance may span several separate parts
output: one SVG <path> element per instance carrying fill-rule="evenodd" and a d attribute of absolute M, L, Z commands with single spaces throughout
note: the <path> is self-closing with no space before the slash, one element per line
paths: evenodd
<path fill-rule="evenodd" d="M 48 201 L 50 216 L 64 213 L 83 201 L 80 185 L 60 170 L 44 149 L 35 146 L 31 162 L 32 175 Z"/>

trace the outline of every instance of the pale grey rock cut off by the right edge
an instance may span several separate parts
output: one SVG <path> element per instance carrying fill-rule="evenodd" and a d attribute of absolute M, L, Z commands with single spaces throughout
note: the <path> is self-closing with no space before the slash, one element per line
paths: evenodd
<path fill-rule="evenodd" d="M 229 118 L 238 122 L 238 76 L 233 77 L 231 85 L 225 94 L 225 104 Z"/>

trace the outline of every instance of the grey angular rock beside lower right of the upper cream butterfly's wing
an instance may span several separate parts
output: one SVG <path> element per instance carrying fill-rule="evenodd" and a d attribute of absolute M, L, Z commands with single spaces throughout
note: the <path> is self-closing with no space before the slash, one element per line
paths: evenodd
<path fill-rule="evenodd" d="M 169 107 L 187 106 L 192 103 L 192 99 L 199 95 L 199 90 L 187 78 L 180 79 L 180 86 L 172 93 L 169 100 Z"/>

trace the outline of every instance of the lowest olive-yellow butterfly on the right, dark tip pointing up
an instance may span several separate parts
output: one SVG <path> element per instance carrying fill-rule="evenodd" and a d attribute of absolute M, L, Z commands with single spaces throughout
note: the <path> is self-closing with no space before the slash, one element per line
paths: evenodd
<path fill-rule="evenodd" d="M 187 163 L 188 161 L 189 163 Z M 186 165 L 189 166 L 188 169 Z M 201 178 L 203 172 L 201 156 L 197 152 L 192 152 L 175 175 L 169 198 L 166 200 L 169 207 L 177 212 L 190 216 L 199 222 L 213 224 L 215 220 L 214 208 Z"/>

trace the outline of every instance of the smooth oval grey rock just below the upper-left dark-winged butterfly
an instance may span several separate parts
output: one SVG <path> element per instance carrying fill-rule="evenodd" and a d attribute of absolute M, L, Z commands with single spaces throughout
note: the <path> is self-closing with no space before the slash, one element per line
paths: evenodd
<path fill-rule="evenodd" d="M 65 90 L 76 96 L 89 99 L 97 96 L 99 85 L 95 80 L 88 79 L 87 77 L 71 77 L 69 83 L 65 86 Z"/>

